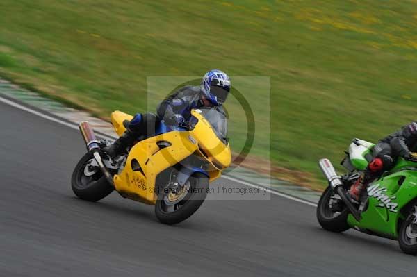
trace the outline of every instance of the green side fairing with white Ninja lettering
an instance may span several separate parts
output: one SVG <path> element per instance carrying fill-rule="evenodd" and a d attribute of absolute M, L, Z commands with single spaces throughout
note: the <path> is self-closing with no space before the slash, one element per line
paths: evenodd
<path fill-rule="evenodd" d="M 399 219 L 404 219 L 401 210 L 417 199 L 417 163 L 400 158 L 390 172 L 368 185 L 368 193 L 373 195 L 361 221 L 349 215 L 348 224 L 397 239 Z"/>

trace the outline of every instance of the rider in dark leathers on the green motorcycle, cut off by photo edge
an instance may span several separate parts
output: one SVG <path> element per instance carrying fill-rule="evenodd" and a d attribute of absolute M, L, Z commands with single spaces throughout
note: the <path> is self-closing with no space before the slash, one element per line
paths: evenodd
<path fill-rule="evenodd" d="M 399 131 L 384 137 L 373 148 L 373 160 L 359 179 L 350 187 L 350 196 L 359 201 L 363 188 L 375 178 L 391 169 L 398 157 L 417 159 L 417 122 L 411 122 Z"/>

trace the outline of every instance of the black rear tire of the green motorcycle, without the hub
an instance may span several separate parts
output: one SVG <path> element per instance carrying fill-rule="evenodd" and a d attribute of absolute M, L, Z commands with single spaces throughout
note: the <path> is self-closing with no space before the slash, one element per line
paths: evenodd
<path fill-rule="evenodd" d="M 327 187 L 320 197 L 320 201 L 318 201 L 316 215 L 318 223 L 322 228 L 329 230 L 330 232 L 341 233 L 350 229 L 350 226 L 347 224 L 349 210 L 344 207 L 337 215 L 331 215 L 332 211 L 329 208 L 329 200 L 333 194 L 332 188 Z"/>

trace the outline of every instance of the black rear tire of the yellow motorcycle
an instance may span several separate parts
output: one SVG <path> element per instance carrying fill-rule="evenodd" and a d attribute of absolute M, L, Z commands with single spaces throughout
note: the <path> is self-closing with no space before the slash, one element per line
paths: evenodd
<path fill-rule="evenodd" d="M 71 187 L 79 198 L 95 202 L 111 194 L 114 188 L 106 181 L 101 171 L 97 171 L 91 177 L 85 176 L 84 167 L 92 158 L 91 153 L 86 153 L 76 164 L 74 172 L 72 172 Z"/>

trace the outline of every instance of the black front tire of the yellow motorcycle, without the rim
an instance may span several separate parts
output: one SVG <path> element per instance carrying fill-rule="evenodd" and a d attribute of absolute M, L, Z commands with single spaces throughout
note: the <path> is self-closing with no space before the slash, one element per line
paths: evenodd
<path fill-rule="evenodd" d="M 164 197 L 166 190 L 161 190 L 155 205 L 155 215 L 163 224 L 178 224 L 193 215 L 206 199 L 208 191 L 208 178 L 204 174 L 195 173 L 190 177 L 190 190 L 185 198 L 179 202 L 178 209 L 167 212 Z"/>

